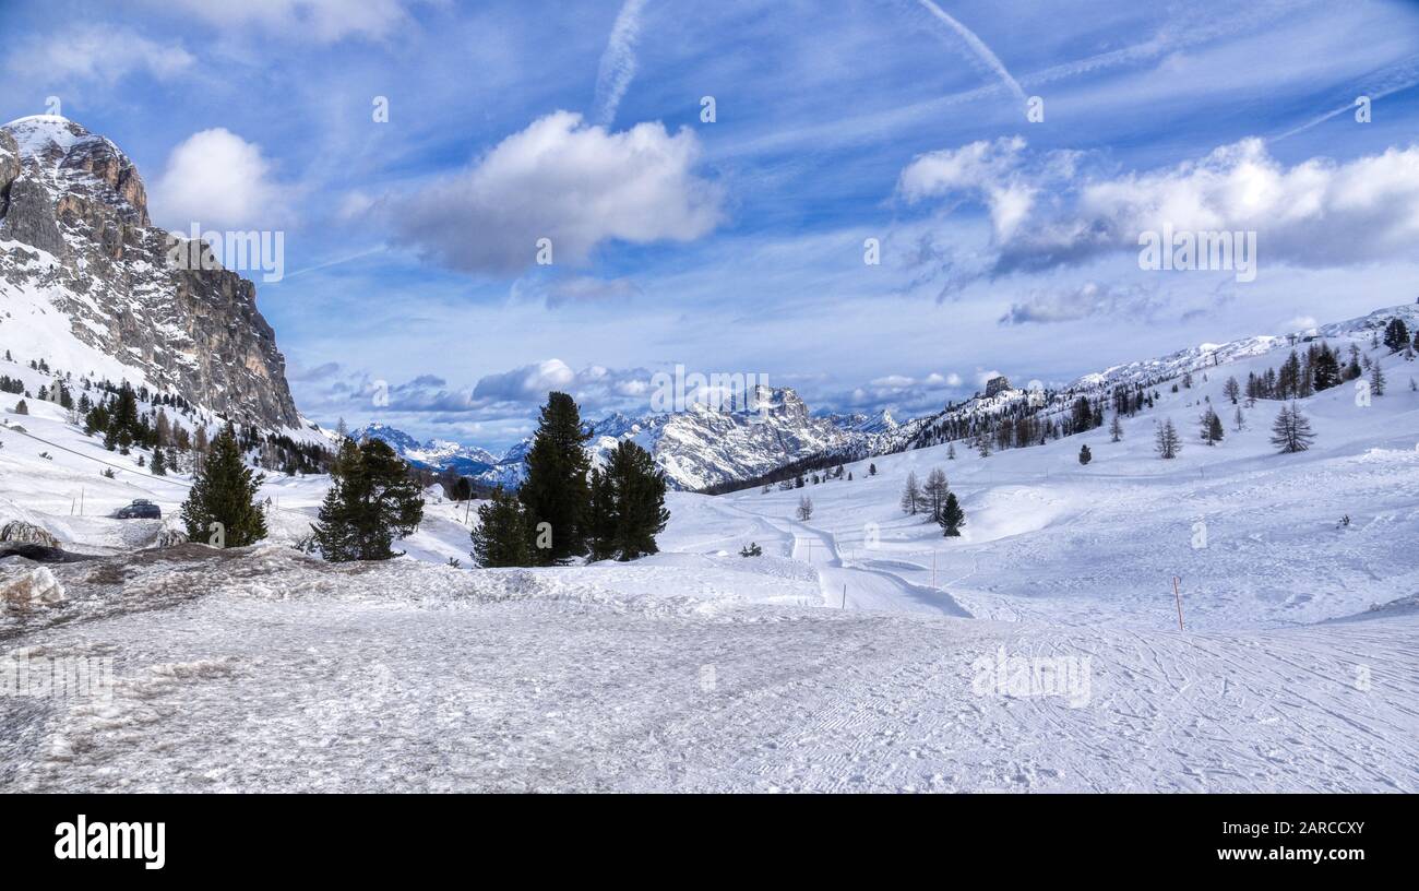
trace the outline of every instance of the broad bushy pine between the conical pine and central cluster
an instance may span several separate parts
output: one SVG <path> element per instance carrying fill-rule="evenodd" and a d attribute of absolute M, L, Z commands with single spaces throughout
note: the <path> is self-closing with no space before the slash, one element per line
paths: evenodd
<path fill-rule="evenodd" d="M 424 499 L 409 465 L 383 440 L 359 446 L 346 438 L 331 465 L 331 488 L 311 529 L 332 563 L 387 560 L 390 545 L 412 535 L 424 518 Z"/>

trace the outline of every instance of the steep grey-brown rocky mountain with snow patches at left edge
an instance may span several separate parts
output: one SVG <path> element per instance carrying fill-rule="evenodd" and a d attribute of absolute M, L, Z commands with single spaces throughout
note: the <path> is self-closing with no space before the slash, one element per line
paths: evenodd
<path fill-rule="evenodd" d="M 255 285 L 224 268 L 176 268 L 169 244 L 112 140 L 54 115 L 0 126 L 0 346 L 302 428 Z"/>

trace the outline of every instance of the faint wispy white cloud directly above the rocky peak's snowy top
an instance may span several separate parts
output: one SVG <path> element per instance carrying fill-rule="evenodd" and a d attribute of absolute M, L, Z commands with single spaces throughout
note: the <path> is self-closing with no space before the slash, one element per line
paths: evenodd
<path fill-rule="evenodd" d="M 9 68 L 51 82 L 119 81 L 136 71 L 167 79 L 194 61 L 182 44 L 160 44 L 123 27 L 84 24 L 23 44 L 10 55 Z"/>

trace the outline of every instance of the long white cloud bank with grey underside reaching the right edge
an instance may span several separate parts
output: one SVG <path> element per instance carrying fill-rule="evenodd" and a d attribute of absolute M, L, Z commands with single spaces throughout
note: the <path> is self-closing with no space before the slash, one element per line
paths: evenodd
<path fill-rule="evenodd" d="M 1242 139 L 1199 160 L 1117 176 L 1076 176 L 1080 156 L 1032 156 L 1020 138 L 922 155 L 898 194 L 976 201 L 995 241 L 983 262 L 948 289 L 979 278 L 1047 272 L 1104 254 L 1138 251 L 1141 233 L 1256 231 L 1259 262 L 1334 268 L 1412 258 L 1419 238 L 1419 146 L 1347 162 L 1287 166 L 1264 140 Z M 1054 200 L 1043 203 L 1049 192 Z"/>

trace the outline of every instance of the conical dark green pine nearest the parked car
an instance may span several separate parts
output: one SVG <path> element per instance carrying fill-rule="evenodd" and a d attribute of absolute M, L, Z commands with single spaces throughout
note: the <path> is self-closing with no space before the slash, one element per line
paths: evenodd
<path fill-rule="evenodd" d="M 216 541 L 223 548 L 245 548 L 261 541 L 267 533 L 265 516 L 255 505 L 255 495 L 263 477 L 254 475 L 241 460 L 231 424 L 211 441 L 210 451 L 182 505 L 187 538 Z"/>

